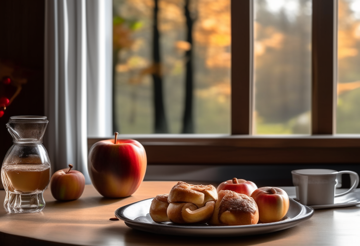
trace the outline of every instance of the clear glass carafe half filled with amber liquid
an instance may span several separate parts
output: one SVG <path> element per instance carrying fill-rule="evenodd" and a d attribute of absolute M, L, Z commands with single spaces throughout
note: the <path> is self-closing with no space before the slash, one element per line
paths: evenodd
<path fill-rule="evenodd" d="M 42 145 L 48 120 L 44 116 L 13 116 L 6 124 L 13 146 L 5 155 L 1 179 L 8 213 L 34 213 L 44 209 L 42 193 L 50 181 L 50 160 Z"/>

